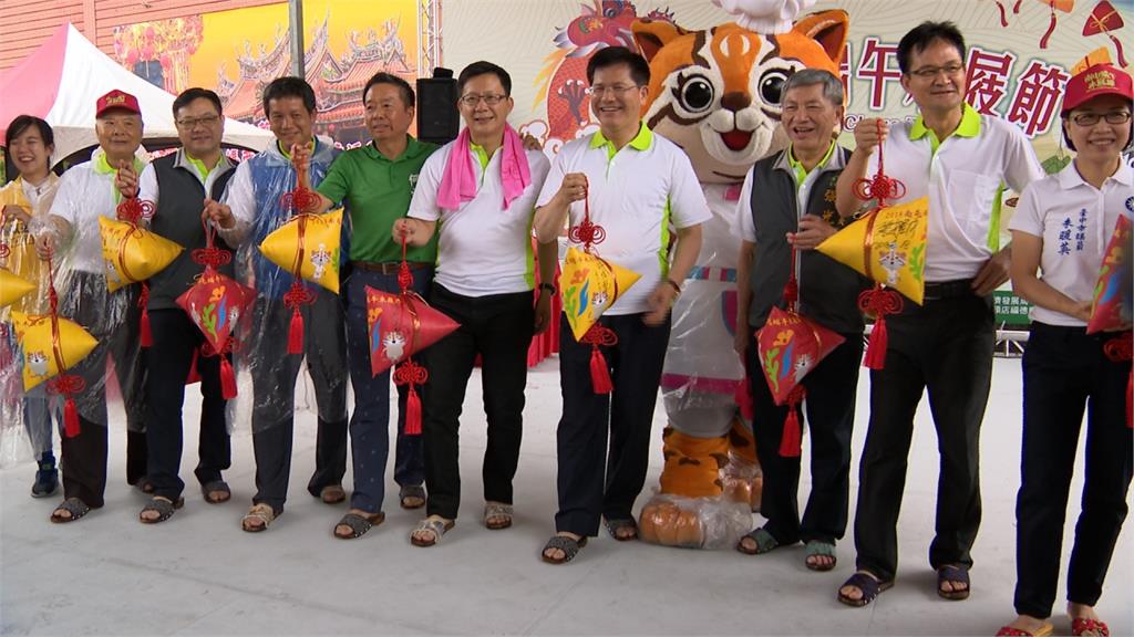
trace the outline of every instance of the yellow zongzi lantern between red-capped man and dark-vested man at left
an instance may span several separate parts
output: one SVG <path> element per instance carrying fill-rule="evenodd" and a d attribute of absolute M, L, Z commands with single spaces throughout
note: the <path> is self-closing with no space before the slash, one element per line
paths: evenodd
<path fill-rule="evenodd" d="M 128 221 L 99 216 L 102 235 L 102 261 L 107 269 L 107 288 L 119 288 L 145 281 L 181 254 L 181 246 Z"/>

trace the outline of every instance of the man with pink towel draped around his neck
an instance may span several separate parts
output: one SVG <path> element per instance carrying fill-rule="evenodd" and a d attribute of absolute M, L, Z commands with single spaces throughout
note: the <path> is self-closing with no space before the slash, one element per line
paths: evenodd
<path fill-rule="evenodd" d="M 457 431 L 476 356 L 488 415 L 484 525 L 511 526 L 519 461 L 527 349 L 551 318 L 550 283 L 533 300 L 532 213 L 548 176 L 542 151 L 525 151 L 508 126 L 511 77 L 491 62 L 473 62 L 457 79 L 465 129 L 422 167 L 409 219 L 393 223 L 395 241 L 423 246 L 440 222 L 437 275 L 430 303 L 460 324 L 425 351 L 423 388 L 426 517 L 411 534 L 416 546 L 437 544 L 460 504 Z M 540 246 L 540 280 L 556 273 L 556 244 Z M 534 303 L 534 306 L 533 306 Z"/>

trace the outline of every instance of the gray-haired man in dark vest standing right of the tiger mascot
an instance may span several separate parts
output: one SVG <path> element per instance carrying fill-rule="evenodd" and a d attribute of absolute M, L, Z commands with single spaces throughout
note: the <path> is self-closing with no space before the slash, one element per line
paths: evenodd
<path fill-rule="evenodd" d="M 838 77 L 823 69 L 793 75 L 784 87 L 781 118 L 792 144 L 752 167 L 737 205 L 743 243 L 736 270 L 736 350 L 747 357 L 755 406 L 753 433 L 764 472 L 760 512 L 768 520 L 744 536 L 737 550 L 755 555 L 803 541 L 804 563 L 811 570 L 835 568 L 835 542 L 847 526 L 850 431 L 862 358 L 857 296 L 863 279 L 814 250 L 844 224 L 835 210 L 835 185 L 849 151 L 832 139 L 841 121 L 843 84 Z M 799 314 L 846 339 L 803 380 L 812 489 L 802 521 L 799 458 L 779 453 L 788 407 L 777 406 L 772 399 L 760 372 L 754 338 L 771 308 L 784 308 L 793 245 L 797 250 Z M 798 414 L 801 422 L 803 411 Z"/>

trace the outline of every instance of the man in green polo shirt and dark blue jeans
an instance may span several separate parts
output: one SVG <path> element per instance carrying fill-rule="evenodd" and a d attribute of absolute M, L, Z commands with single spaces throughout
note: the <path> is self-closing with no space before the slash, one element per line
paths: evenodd
<path fill-rule="evenodd" d="M 350 511 L 335 527 L 341 538 L 358 537 L 383 519 L 383 476 L 389 456 L 390 372 L 370 373 L 366 329 L 366 287 L 396 292 L 401 245 L 390 237 L 393 221 L 406 215 L 422 164 L 435 144 L 409 136 L 414 120 L 414 92 L 400 77 L 379 73 L 362 92 L 366 128 L 373 142 L 342 153 L 316 192 L 322 209 L 341 202 L 350 214 L 352 274 L 346 284 L 347 359 L 355 407 L 350 416 L 354 492 Z M 406 260 L 414 275 L 414 291 L 425 295 L 433 280 L 437 238 L 411 247 Z M 405 435 L 406 391 L 398 388 L 398 443 L 393 479 L 400 485 L 401 507 L 425 504 L 425 466 L 421 436 Z"/>

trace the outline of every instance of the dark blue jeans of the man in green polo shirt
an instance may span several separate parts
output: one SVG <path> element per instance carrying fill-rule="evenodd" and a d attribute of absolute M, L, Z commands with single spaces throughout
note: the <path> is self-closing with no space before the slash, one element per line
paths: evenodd
<path fill-rule="evenodd" d="M 413 289 L 425 296 L 433 280 L 433 269 L 414 270 Z M 350 459 L 354 492 L 350 508 L 376 513 L 386 496 L 386 460 L 390 453 L 390 371 L 370 373 L 370 330 L 366 325 L 366 287 L 399 292 L 398 275 L 354 270 L 347 280 L 347 363 L 355 407 L 350 415 Z M 425 481 L 422 436 L 406 435 L 407 388 L 398 388 L 398 442 L 393 479 L 399 485 L 420 485 Z"/>

